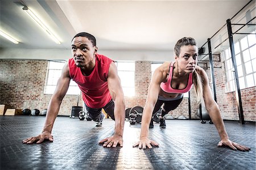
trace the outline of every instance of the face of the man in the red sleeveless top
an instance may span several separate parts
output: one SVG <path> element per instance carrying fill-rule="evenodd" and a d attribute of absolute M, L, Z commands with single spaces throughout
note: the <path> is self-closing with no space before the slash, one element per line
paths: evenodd
<path fill-rule="evenodd" d="M 94 60 L 97 47 L 84 36 L 78 36 L 72 40 L 72 55 L 77 67 L 85 67 Z"/>

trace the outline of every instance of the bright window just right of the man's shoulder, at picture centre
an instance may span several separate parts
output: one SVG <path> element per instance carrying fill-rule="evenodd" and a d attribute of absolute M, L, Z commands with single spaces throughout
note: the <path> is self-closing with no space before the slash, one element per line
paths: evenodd
<path fill-rule="evenodd" d="M 134 83 L 134 62 L 115 62 L 117 65 L 118 76 L 121 80 L 123 94 L 125 96 L 135 96 L 135 83 Z"/>

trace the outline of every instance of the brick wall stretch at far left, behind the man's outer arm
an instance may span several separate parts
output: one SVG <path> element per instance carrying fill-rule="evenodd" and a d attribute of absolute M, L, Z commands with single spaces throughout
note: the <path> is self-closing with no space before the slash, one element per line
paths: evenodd
<path fill-rule="evenodd" d="M 51 98 L 44 94 L 47 66 L 46 60 L 0 60 L 0 104 L 15 109 L 47 109 Z M 77 96 L 66 95 L 59 115 L 70 115 L 73 105 L 77 105 Z"/>

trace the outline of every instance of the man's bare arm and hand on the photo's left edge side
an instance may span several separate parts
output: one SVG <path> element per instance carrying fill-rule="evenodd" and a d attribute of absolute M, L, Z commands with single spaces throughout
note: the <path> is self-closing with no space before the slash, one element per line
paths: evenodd
<path fill-rule="evenodd" d="M 53 142 L 53 136 L 51 135 L 53 123 L 57 117 L 57 114 L 59 113 L 62 99 L 67 93 L 70 79 L 71 78 L 69 77 L 69 68 L 67 63 L 63 68 L 61 76 L 57 82 L 55 92 L 53 93 L 51 100 L 49 102 L 46 114 L 46 122 L 44 123 L 42 134 L 31 138 L 27 138 L 23 140 L 23 143 L 42 143 L 45 139 L 48 139 L 49 141 Z"/>

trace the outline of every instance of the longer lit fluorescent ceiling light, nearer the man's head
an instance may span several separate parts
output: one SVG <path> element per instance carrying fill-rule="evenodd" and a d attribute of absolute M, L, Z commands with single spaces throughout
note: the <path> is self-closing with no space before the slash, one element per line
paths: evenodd
<path fill-rule="evenodd" d="M 44 31 L 46 31 L 47 35 L 57 44 L 60 44 L 60 41 L 56 38 L 56 36 L 46 27 L 46 24 L 42 22 L 27 6 L 23 7 L 23 10 L 36 22 Z"/>

